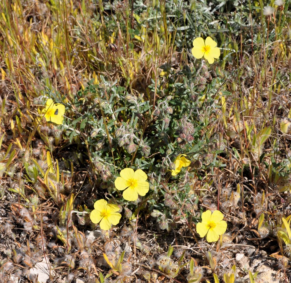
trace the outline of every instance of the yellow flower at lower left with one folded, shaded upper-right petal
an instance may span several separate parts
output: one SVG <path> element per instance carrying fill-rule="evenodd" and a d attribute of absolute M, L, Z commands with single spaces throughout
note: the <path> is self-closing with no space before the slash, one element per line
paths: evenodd
<path fill-rule="evenodd" d="M 121 214 L 118 213 L 119 207 L 116 204 L 107 204 L 105 199 L 99 199 L 95 202 L 94 208 L 91 211 L 90 219 L 93 223 L 99 223 L 102 230 L 109 230 L 111 224 L 117 225 L 121 218 Z"/>

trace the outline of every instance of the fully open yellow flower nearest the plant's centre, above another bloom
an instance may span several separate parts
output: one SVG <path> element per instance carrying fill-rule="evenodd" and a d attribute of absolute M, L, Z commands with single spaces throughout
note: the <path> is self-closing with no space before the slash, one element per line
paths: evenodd
<path fill-rule="evenodd" d="M 120 171 L 114 184 L 117 190 L 123 191 L 123 198 L 128 201 L 136 201 L 138 195 L 144 196 L 149 190 L 148 176 L 141 169 L 135 172 L 132 168 L 125 168 Z"/>

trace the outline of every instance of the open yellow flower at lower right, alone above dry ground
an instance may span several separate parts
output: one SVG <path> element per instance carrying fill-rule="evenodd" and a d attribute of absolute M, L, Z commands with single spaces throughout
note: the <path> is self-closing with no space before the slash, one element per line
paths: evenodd
<path fill-rule="evenodd" d="M 207 234 L 207 242 L 216 242 L 219 239 L 219 235 L 226 231 L 227 223 L 222 219 L 223 214 L 218 210 L 213 211 L 212 214 L 210 210 L 203 212 L 202 222 L 196 225 L 197 233 L 201 238 Z"/>

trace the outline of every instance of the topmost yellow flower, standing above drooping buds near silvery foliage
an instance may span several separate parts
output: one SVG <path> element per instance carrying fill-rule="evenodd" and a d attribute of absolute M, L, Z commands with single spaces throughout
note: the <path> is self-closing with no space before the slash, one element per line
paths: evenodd
<path fill-rule="evenodd" d="M 210 36 L 204 39 L 202 37 L 197 37 L 193 40 L 193 48 L 191 50 L 193 56 L 196 59 L 204 58 L 208 61 L 209 64 L 214 62 L 214 58 L 218 58 L 220 55 L 220 50 L 217 46 L 217 43 L 212 40 Z"/>

